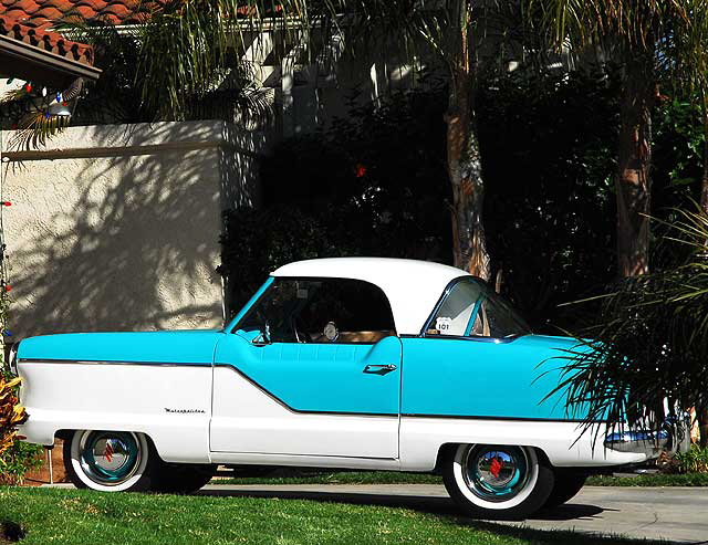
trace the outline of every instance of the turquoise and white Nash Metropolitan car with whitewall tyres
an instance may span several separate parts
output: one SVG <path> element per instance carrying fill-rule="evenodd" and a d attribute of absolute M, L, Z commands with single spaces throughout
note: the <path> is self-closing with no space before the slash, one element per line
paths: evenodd
<path fill-rule="evenodd" d="M 80 488 L 188 492 L 217 464 L 438 471 L 466 512 L 519 517 L 671 441 L 594 441 L 561 394 L 541 402 L 560 370 L 539 364 L 575 345 L 459 269 L 341 258 L 278 269 L 220 331 L 30 337 L 11 361 L 20 433 L 64 439 Z"/>

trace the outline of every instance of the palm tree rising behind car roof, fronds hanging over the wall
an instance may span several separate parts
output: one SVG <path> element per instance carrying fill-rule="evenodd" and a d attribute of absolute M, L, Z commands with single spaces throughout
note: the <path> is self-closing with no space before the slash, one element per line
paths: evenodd
<path fill-rule="evenodd" d="M 65 24 L 65 31 L 80 32 L 94 44 L 104 69 L 100 90 L 75 113 L 81 123 L 262 116 L 264 101 L 249 78 L 243 51 L 264 31 L 278 34 L 279 43 L 296 42 L 301 60 L 322 56 L 317 48 L 323 36 L 332 35 L 351 50 L 361 41 L 394 43 L 414 65 L 424 55 L 437 59 L 450 82 L 446 122 L 454 261 L 489 279 L 475 90 L 478 45 L 492 30 L 489 25 L 482 36 L 480 21 L 494 20 L 491 13 L 502 8 L 512 12 L 518 2 L 444 0 L 433 9 L 414 0 L 173 0 L 145 6 L 153 9 L 150 17 L 127 32 L 101 21 Z"/>

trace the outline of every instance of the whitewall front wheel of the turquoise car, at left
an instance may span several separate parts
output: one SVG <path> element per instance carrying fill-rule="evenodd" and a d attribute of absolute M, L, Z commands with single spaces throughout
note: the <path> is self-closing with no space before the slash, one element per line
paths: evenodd
<path fill-rule="evenodd" d="M 149 490 L 157 460 L 155 449 L 143 433 L 77 430 L 64 441 L 66 474 L 79 489 Z"/>

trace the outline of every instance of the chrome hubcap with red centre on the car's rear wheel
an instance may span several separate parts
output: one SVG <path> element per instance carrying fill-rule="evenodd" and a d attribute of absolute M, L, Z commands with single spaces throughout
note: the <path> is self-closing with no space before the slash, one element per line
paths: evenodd
<path fill-rule="evenodd" d="M 519 447 L 473 446 L 461 462 L 468 489 L 486 501 L 509 501 L 529 481 L 529 459 Z"/>

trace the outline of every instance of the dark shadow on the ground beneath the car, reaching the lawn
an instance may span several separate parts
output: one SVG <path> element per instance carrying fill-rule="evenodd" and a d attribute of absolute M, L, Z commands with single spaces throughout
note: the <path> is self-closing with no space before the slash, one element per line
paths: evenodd
<path fill-rule="evenodd" d="M 533 530 L 519 525 L 523 521 L 514 521 L 514 525 L 472 520 L 464 516 L 449 497 L 425 495 L 386 495 L 352 492 L 315 492 L 315 491 L 268 491 L 268 490 L 202 490 L 197 493 L 206 496 L 231 497 L 278 497 L 282 500 L 310 500 L 315 502 L 346 503 L 353 505 L 378 505 L 400 507 L 419 513 L 449 518 L 451 523 L 485 530 L 498 535 L 527 539 L 534 544 L 608 545 L 608 544 L 668 544 L 666 541 L 637 541 L 616 536 L 600 536 L 592 533 L 576 533 L 565 530 Z M 613 511 L 585 504 L 565 504 L 553 510 L 543 510 L 529 521 L 573 521 L 596 518 L 605 511 Z"/>

